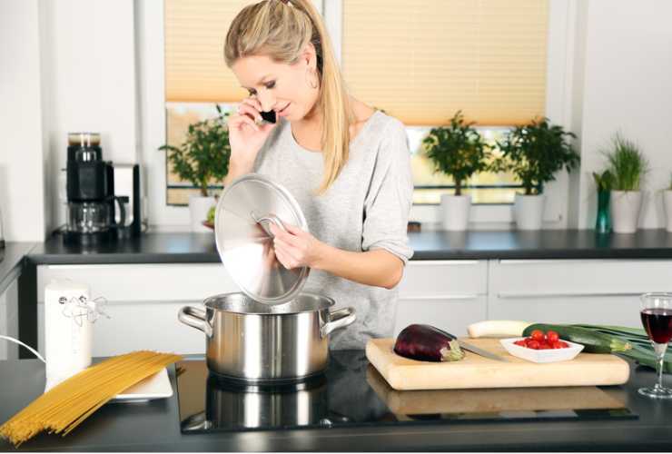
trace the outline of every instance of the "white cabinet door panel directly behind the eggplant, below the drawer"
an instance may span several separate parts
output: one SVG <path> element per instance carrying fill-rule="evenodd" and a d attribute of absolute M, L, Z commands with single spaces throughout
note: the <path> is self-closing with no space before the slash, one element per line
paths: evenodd
<path fill-rule="evenodd" d="M 428 324 L 456 336 L 466 336 L 469 324 L 486 320 L 487 301 L 486 295 L 401 298 L 394 336 L 412 323 Z"/>

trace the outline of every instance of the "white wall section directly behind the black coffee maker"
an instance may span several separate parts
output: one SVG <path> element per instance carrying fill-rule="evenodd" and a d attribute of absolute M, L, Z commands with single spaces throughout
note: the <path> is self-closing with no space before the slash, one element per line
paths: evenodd
<path fill-rule="evenodd" d="M 43 0 L 40 8 L 51 231 L 65 222 L 68 132 L 99 132 L 105 160 L 138 162 L 134 13 L 133 0 Z"/>

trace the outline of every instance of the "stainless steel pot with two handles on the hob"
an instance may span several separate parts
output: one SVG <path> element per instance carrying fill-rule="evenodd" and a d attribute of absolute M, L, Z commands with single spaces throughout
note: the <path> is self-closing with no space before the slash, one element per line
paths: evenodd
<path fill-rule="evenodd" d="M 206 336 L 208 369 L 229 379 L 295 381 L 321 373 L 329 358 L 329 334 L 355 321 L 354 308 L 330 311 L 326 296 L 301 293 L 268 305 L 243 293 L 204 301 L 205 311 L 185 306 L 184 324 Z"/>

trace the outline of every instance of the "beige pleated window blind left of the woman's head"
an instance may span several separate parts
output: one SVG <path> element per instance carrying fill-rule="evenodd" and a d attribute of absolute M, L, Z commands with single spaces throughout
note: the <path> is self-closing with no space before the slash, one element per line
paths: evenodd
<path fill-rule="evenodd" d="M 233 17 L 252 0 L 165 0 L 165 99 L 230 103 L 247 93 L 224 63 Z"/>

